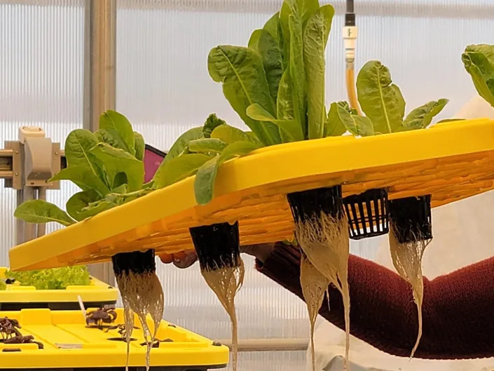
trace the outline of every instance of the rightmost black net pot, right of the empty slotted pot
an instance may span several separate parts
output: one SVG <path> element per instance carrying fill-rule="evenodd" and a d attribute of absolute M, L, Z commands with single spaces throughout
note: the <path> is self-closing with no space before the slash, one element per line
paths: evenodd
<path fill-rule="evenodd" d="M 388 201 L 387 208 L 399 243 L 432 238 L 430 195 Z"/>

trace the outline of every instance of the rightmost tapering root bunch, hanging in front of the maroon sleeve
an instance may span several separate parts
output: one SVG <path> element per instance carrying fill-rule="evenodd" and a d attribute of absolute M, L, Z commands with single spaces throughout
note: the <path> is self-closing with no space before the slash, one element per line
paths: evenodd
<path fill-rule="evenodd" d="M 411 351 L 410 358 L 413 358 L 420 337 L 422 337 L 422 302 L 424 296 L 424 281 L 422 276 L 422 257 L 425 248 L 431 240 L 423 240 L 418 236 L 417 241 L 399 243 L 395 234 L 395 229 L 390 221 L 390 252 L 394 268 L 402 278 L 410 283 L 413 292 L 413 301 L 417 305 L 418 311 L 418 335 L 415 345 Z"/>

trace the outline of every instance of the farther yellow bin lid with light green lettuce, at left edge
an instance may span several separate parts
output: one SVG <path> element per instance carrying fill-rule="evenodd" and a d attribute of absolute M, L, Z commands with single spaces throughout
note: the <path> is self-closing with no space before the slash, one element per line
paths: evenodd
<path fill-rule="evenodd" d="M 0 279 L 4 279 L 6 267 L 0 267 Z M 0 309 L 9 307 L 6 304 L 22 303 L 74 303 L 78 308 L 78 296 L 84 303 L 115 304 L 118 299 L 118 290 L 97 278 L 91 277 L 91 284 L 87 286 L 67 286 L 65 290 L 36 290 L 34 286 L 21 286 L 18 283 L 7 285 L 6 290 L 0 290 Z M 31 304 L 33 305 L 33 304 Z"/>

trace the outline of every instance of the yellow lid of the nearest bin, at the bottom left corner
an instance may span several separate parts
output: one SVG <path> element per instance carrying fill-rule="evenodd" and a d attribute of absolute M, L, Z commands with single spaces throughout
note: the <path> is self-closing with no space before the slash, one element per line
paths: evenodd
<path fill-rule="evenodd" d="M 123 323 L 123 309 L 116 309 L 115 323 Z M 50 311 L 23 309 L 2 311 L 0 317 L 18 320 L 22 335 L 33 335 L 44 349 L 36 344 L 2 344 L 0 342 L 0 370 L 41 368 L 125 367 L 127 344 L 118 330 L 88 328 L 81 311 Z M 135 318 L 136 326 L 139 321 Z M 149 325 L 152 326 L 151 321 Z M 151 327 L 152 328 L 152 327 Z M 142 329 L 132 332 L 129 365 L 144 367 L 146 346 Z M 162 321 L 157 339 L 159 348 L 151 349 L 151 366 L 176 367 L 173 370 L 207 370 L 228 363 L 226 346 L 213 343 L 200 335 Z M 4 351 L 9 349 L 11 351 Z M 12 351 L 16 349 L 18 351 Z M 98 368 L 99 369 L 99 368 Z"/>

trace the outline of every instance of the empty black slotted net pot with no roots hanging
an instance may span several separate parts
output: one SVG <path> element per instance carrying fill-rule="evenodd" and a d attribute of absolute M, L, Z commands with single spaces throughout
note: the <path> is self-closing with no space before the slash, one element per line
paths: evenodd
<path fill-rule="evenodd" d="M 380 236 L 390 230 L 387 220 L 387 191 L 369 189 L 343 198 L 352 240 Z"/>

